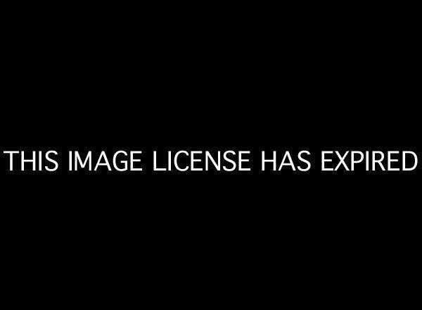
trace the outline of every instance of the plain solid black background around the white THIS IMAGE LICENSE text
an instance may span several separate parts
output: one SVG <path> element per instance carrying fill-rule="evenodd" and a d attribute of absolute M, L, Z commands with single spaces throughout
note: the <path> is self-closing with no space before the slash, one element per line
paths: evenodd
<path fill-rule="evenodd" d="M 8 292 L 403 302 L 418 275 L 420 167 L 322 173 L 319 152 L 420 158 L 417 20 L 174 9 L 20 8 L 2 39 L 1 150 L 250 149 L 254 171 L 8 173 L 2 159 Z M 260 173 L 261 150 L 302 149 L 309 173 Z"/>

